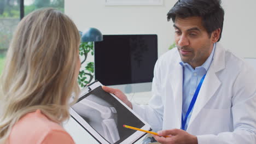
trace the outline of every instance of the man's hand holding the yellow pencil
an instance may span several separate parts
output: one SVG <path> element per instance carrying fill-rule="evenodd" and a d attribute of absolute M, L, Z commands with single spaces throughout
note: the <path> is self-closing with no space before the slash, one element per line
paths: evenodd
<path fill-rule="evenodd" d="M 155 140 L 163 144 L 197 144 L 197 137 L 182 129 L 162 130 L 158 135 L 154 135 Z"/>

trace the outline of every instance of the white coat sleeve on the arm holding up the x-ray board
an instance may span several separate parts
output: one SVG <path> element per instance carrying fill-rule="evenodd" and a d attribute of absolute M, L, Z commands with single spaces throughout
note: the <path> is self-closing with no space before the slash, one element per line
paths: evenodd
<path fill-rule="evenodd" d="M 159 60 L 155 64 L 154 78 L 152 82 L 152 98 L 148 105 L 132 104 L 132 109 L 141 116 L 147 123 L 149 123 L 153 131 L 162 129 L 162 117 L 164 106 L 162 104 L 162 88 L 161 88 L 161 74 Z"/>

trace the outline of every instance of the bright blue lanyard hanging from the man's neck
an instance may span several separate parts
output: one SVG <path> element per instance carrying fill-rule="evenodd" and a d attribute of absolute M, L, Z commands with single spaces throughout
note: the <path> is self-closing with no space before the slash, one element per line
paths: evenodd
<path fill-rule="evenodd" d="M 206 75 L 206 74 L 205 74 Z M 196 98 L 197 98 L 197 95 L 200 91 L 200 88 L 202 86 L 202 82 L 203 80 L 205 80 L 205 75 L 203 75 L 201 81 L 199 82 L 197 88 L 196 88 L 196 91 L 194 93 L 194 96 L 190 102 L 190 105 L 189 105 L 189 108 L 188 108 L 188 111 L 186 113 L 186 116 L 185 116 L 185 119 L 183 120 L 183 116 L 182 116 L 182 129 L 185 130 L 185 124 L 187 123 L 187 119 L 188 119 L 188 116 L 189 116 L 189 113 L 191 112 L 191 110 L 193 109 L 193 106 L 195 105 L 195 101 L 196 101 Z"/>

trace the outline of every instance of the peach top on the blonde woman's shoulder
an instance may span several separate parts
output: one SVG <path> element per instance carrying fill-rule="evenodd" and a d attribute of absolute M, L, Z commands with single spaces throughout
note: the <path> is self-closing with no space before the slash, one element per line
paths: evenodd
<path fill-rule="evenodd" d="M 40 110 L 27 113 L 11 129 L 8 144 L 74 144 L 60 124 L 48 119 Z"/>

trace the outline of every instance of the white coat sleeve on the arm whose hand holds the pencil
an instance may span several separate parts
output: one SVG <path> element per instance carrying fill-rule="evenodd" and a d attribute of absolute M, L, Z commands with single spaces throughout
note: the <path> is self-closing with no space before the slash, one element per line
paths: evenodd
<path fill-rule="evenodd" d="M 256 73 L 252 69 L 242 70 L 233 85 L 231 112 L 234 131 L 219 133 L 218 135 L 197 135 L 199 144 L 256 143 L 255 75 Z"/>

